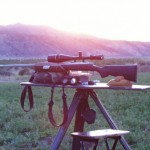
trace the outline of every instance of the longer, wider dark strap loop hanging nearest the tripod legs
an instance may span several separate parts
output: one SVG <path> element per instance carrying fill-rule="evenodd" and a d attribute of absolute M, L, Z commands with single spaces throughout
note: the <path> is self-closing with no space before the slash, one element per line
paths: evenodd
<path fill-rule="evenodd" d="M 62 94 L 64 118 L 62 120 L 62 123 L 60 123 L 60 124 L 56 123 L 56 121 L 54 119 L 54 115 L 53 115 L 53 110 L 52 110 L 53 105 L 54 105 L 53 94 L 54 94 L 54 87 L 52 87 L 52 89 L 51 89 L 51 99 L 48 103 L 48 106 L 49 106 L 49 108 L 48 108 L 48 117 L 49 117 L 49 120 L 50 120 L 50 122 L 52 123 L 53 126 L 60 127 L 60 126 L 64 125 L 66 123 L 67 119 L 68 119 L 68 107 L 67 107 L 67 101 L 66 101 L 67 96 L 64 92 L 64 86 L 63 86 L 63 94 Z"/>

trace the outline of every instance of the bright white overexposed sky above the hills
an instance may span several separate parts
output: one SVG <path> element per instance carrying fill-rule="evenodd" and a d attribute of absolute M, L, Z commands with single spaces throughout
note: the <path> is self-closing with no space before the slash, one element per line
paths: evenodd
<path fill-rule="evenodd" d="M 44 25 L 129 41 L 150 41 L 149 0 L 0 0 L 0 25 Z"/>

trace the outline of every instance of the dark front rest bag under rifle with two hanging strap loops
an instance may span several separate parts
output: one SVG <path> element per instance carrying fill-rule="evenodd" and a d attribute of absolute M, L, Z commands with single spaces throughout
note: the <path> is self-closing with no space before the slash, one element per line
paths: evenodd
<path fill-rule="evenodd" d="M 38 77 L 39 79 L 38 79 L 37 77 L 35 78 L 35 74 L 36 74 L 36 73 L 34 73 L 34 74 L 30 77 L 29 82 L 38 81 L 37 83 L 43 83 L 43 84 L 44 84 L 44 83 L 52 83 L 52 82 L 51 82 L 51 81 L 52 81 L 52 78 L 51 78 L 52 76 L 51 76 L 50 73 L 45 73 L 45 72 L 44 72 L 44 74 L 43 74 L 43 73 L 40 73 L 40 76 Z M 44 75 L 44 76 L 43 76 L 43 75 Z M 45 79 L 41 79 L 42 76 L 45 77 Z M 35 80 L 35 79 L 36 79 L 36 80 Z M 38 79 L 38 80 L 37 80 L 37 79 Z M 53 78 L 53 79 L 54 79 L 54 78 Z M 54 81 L 57 81 L 57 82 L 58 82 L 57 77 L 55 78 Z M 27 93 L 28 93 L 28 99 L 29 99 L 29 109 L 28 109 L 28 110 L 25 109 L 25 106 L 24 106 Z M 49 120 L 50 120 L 50 122 L 52 123 L 53 126 L 55 126 L 55 127 L 60 127 L 60 126 L 62 126 L 63 124 L 65 124 L 66 121 L 67 121 L 67 119 L 68 119 L 68 107 L 67 107 L 67 101 L 66 101 L 66 94 L 65 94 L 65 92 L 64 92 L 64 86 L 63 86 L 63 94 L 62 94 L 62 100 L 63 100 L 62 103 L 63 103 L 63 115 L 64 115 L 64 118 L 63 118 L 63 120 L 62 120 L 62 123 L 60 123 L 60 124 L 57 124 L 56 121 L 55 121 L 55 119 L 54 119 L 54 117 L 53 117 L 53 111 L 52 111 L 53 105 L 54 105 L 53 93 L 54 93 L 54 86 L 52 87 L 52 90 L 51 90 L 51 99 L 50 99 L 50 101 L 49 101 L 49 103 L 48 103 L 48 106 L 49 106 L 49 108 L 48 108 L 48 117 L 49 117 Z M 25 112 L 28 112 L 28 111 L 30 111 L 30 110 L 33 108 L 34 99 L 33 99 L 33 93 L 32 93 L 32 88 L 31 88 L 31 86 L 26 85 L 26 86 L 23 88 L 22 93 L 21 93 L 21 97 L 20 97 L 20 104 L 21 104 L 22 109 L 23 109 Z"/>

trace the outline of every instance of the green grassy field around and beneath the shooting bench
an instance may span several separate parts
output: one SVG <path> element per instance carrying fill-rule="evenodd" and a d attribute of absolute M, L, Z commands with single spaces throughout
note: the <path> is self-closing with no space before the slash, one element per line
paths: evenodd
<path fill-rule="evenodd" d="M 18 77 L 17 77 L 18 78 Z M 27 81 L 27 77 L 21 79 Z M 107 82 L 108 79 L 105 79 Z M 19 81 L 0 83 L 0 150 L 47 150 L 58 128 L 53 127 L 47 117 L 47 103 L 50 98 L 50 88 L 34 87 L 34 109 L 26 113 L 20 106 L 22 86 Z M 102 81 L 103 82 L 103 81 Z M 150 85 L 150 73 L 138 73 L 137 84 Z M 56 93 L 61 93 L 58 89 Z M 66 89 L 68 105 L 74 90 Z M 133 150 L 150 149 L 150 91 L 117 91 L 96 90 L 105 107 L 117 123 L 119 129 L 129 130 L 126 135 Z M 58 120 L 61 120 L 61 94 L 55 95 L 55 110 Z M 97 107 L 90 101 L 90 106 L 97 112 L 94 124 L 85 124 L 85 130 L 108 128 L 108 125 Z M 73 132 L 70 128 L 60 146 L 60 150 L 70 150 Z M 118 145 L 118 150 L 123 148 Z"/>

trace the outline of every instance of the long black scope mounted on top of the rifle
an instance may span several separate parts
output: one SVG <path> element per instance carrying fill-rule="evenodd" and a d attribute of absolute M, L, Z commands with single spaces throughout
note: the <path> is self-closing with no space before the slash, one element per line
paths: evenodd
<path fill-rule="evenodd" d="M 82 52 L 79 52 L 79 56 L 70 56 L 70 55 L 64 55 L 64 54 L 54 54 L 48 56 L 47 60 L 48 62 L 54 62 L 54 63 L 61 63 L 65 61 L 70 61 L 70 60 L 82 60 L 84 61 L 85 59 L 89 60 L 103 60 L 104 56 L 103 55 L 90 55 L 90 56 L 82 56 Z"/>

